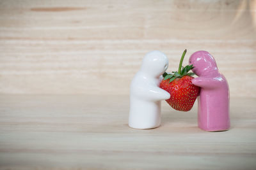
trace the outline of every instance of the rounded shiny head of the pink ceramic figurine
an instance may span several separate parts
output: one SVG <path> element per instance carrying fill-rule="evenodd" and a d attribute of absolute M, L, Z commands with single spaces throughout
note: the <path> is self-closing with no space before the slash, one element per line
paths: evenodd
<path fill-rule="evenodd" d="M 197 76 L 202 76 L 209 71 L 218 71 L 217 64 L 209 52 L 198 51 L 189 57 L 189 65 L 193 64 L 195 68 L 192 71 Z"/>

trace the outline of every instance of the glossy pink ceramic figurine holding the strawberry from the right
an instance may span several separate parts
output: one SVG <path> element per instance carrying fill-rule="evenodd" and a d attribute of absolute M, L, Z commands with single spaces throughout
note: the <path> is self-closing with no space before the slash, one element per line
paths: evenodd
<path fill-rule="evenodd" d="M 226 78 L 209 52 L 191 55 L 189 64 L 198 76 L 192 83 L 201 87 L 198 97 L 198 127 L 205 131 L 227 131 L 230 128 L 229 90 Z"/>

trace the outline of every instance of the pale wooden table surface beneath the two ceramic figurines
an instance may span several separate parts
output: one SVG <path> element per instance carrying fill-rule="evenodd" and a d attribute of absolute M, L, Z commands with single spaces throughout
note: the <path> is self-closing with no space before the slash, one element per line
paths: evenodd
<path fill-rule="evenodd" d="M 255 169 L 256 99 L 231 98 L 231 129 L 162 103 L 162 125 L 127 125 L 129 96 L 1 95 L 1 169 Z"/>

